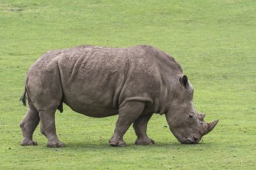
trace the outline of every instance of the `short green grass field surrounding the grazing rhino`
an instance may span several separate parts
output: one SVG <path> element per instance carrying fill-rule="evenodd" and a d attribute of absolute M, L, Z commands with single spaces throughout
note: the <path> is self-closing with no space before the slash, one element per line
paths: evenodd
<path fill-rule="evenodd" d="M 194 103 L 219 124 L 199 145 L 180 145 L 154 115 L 148 134 L 156 145 L 125 148 L 108 140 L 116 116 L 95 119 L 64 106 L 57 134 L 65 148 L 19 145 L 19 102 L 26 71 L 50 49 L 81 44 L 149 44 L 182 65 Z M 254 169 L 256 166 L 256 2 L 0 0 L 0 169 Z"/>

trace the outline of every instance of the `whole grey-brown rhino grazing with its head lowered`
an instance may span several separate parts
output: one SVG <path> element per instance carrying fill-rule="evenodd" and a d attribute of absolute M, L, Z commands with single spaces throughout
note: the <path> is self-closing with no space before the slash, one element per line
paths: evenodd
<path fill-rule="evenodd" d="M 150 145 L 147 122 L 153 113 L 165 114 L 171 132 L 182 144 L 198 143 L 213 123 L 203 121 L 193 105 L 193 87 L 181 66 L 152 46 L 127 49 L 78 46 L 43 54 L 26 76 L 22 96 L 29 110 L 20 123 L 21 145 L 37 145 L 33 131 L 40 131 L 48 147 L 64 146 L 57 138 L 55 111 L 64 102 L 89 117 L 119 114 L 109 145 L 124 146 L 123 134 L 133 124 L 137 145 Z"/>

